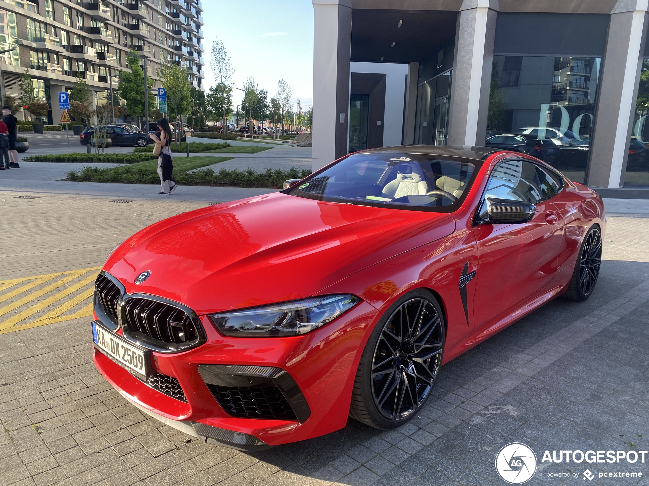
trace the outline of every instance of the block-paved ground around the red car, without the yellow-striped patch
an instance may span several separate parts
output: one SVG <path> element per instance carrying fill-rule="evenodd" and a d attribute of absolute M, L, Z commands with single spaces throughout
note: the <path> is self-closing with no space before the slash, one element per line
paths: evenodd
<path fill-rule="evenodd" d="M 107 211 L 115 203 L 76 198 L 5 211 L 0 279 L 101 265 L 130 233 L 204 205 L 134 204 L 119 205 L 119 217 Z M 506 443 L 529 445 L 539 461 L 545 449 L 647 450 L 649 215 L 628 211 L 609 212 L 620 215 L 609 216 L 591 299 L 556 299 L 445 365 L 424 409 L 397 430 L 350 419 L 334 434 L 260 453 L 206 445 L 106 383 L 87 318 L 2 334 L 0 483 L 504 485 L 494 461 Z M 585 484 L 581 472 L 597 466 L 575 464 L 580 476 L 566 480 L 546 478 L 545 463 L 526 484 Z"/>

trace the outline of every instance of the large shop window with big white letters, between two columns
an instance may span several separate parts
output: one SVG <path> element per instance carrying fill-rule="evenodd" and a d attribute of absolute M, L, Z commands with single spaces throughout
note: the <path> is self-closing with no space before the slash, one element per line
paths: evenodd
<path fill-rule="evenodd" d="M 598 57 L 494 56 L 485 145 L 529 153 L 584 183 L 600 64 Z"/>

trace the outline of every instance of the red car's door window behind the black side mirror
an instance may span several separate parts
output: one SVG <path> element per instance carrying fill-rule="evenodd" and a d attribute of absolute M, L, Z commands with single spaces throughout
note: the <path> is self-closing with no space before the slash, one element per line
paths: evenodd
<path fill-rule="evenodd" d="M 522 160 L 508 160 L 496 166 L 485 199 L 506 199 L 535 204 L 561 189 L 561 181 L 554 172 Z"/>

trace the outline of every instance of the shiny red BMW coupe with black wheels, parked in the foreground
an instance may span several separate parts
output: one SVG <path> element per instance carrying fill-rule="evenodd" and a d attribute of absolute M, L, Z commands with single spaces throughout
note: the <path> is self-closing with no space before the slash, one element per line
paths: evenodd
<path fill-rule="evenodd" d="M 397 427 L 442 364 L 597 282 L 602 200 L 526 154 L 380 148 L 286 186 L 147 227 L 97 277 L 99 371 L 209 443 Z"/>

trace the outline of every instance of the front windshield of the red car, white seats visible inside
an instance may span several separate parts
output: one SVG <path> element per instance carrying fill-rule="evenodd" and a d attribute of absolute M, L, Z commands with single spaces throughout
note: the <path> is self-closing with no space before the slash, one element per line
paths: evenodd
<path fill-rule="evenodd" d="M 475 166 L 422 154 L 354 154 L 312 176 L 288 194 L 402 209 L 454 210 Z"/>

